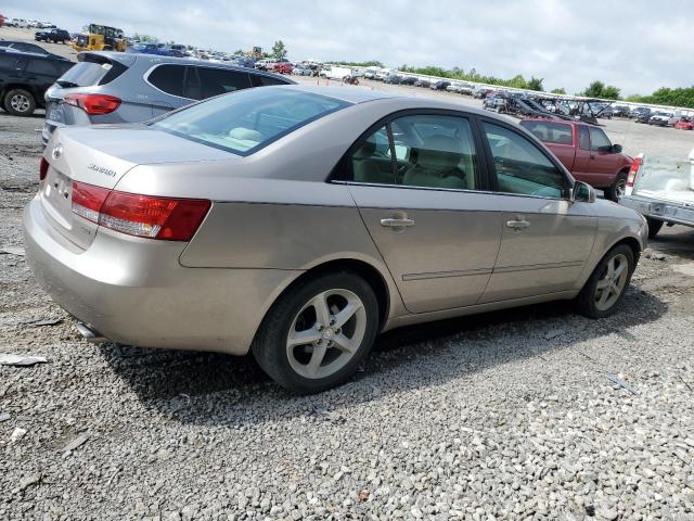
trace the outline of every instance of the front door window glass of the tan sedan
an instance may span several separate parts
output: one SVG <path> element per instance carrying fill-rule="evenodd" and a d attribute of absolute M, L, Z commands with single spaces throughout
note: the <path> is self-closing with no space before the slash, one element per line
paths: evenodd
<path fill-rule="evenodd" d="M 560 199 L 564 174 L 529 140 L 507 128 L 484 123 L 500 192 Z"/>

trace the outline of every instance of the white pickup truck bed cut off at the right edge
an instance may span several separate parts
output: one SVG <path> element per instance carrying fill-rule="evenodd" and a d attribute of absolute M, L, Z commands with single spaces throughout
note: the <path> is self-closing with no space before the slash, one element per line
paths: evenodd
<path fill-rule="evenodd" d="M 646 218 L 651 238 L 666 223 L 694 227 L 694 149 L 687 160 L 639 154 L 619 204 Z"/>

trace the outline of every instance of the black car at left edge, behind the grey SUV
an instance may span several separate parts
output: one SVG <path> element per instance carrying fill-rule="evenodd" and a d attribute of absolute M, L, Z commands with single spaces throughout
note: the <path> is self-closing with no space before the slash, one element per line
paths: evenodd
<path fill-rule="evenodd" d="M 53 55 L 0 48 L 0 109 L 14 116 L 30 116 L 44 106 L 48 88 L 73 63 Z"/>

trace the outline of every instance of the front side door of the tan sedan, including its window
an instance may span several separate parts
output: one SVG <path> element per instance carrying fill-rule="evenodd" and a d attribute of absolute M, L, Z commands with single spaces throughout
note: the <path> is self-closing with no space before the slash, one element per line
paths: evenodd
<path fill-rule="evenodd" d="M 485 119 L 481 130 L 502 236 L 480 303 L 574 289 L 596 232 L 590 205 L 570 201 L 564 170 L 516 128 Z"/>

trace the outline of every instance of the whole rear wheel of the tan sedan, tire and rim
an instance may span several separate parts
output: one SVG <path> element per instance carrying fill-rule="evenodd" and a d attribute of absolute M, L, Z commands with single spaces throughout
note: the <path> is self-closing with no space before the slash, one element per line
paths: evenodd
<path fill-rule="evenodd" d="M 319 393 L 355 373 L 377 330 L 371 285 L 352 272 L 325 274 L 299 282 L 275 302 L 250 351 L 283 387 Z"/>

